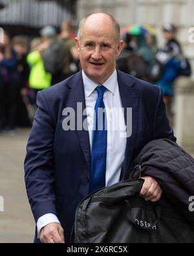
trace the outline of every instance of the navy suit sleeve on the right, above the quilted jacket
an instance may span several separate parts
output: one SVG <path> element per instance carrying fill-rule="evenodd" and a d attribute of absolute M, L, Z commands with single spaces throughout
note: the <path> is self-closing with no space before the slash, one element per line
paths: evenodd
<path fill-rule="evenodd" d="M 153 121 L 153 139 L 170 139 L 176 142 L 173 129 L 169 125 L 166 115 L 166 107 L 163 101 L 162 89 L 158 87 L 158 99 L 156 102 L 155 116 Z"/>

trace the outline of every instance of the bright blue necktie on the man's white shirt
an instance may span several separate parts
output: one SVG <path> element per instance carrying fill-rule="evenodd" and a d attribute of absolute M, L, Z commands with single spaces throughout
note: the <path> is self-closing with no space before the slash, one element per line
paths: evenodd
<path fill-rule="evenodd" d="M 98 99 L 94 108 L 94 128 L 92 134 L 91 179 L 89 192 L 105 187 L 107 160 L 107 129 L 105 105 L 103 103 L 104 86 L 96 87 Z M 103 111 L 103 112 L 102 112 Z"/>

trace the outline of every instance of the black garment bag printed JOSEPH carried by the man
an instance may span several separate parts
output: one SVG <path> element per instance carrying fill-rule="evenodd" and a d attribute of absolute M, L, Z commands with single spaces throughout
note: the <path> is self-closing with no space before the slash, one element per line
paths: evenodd
<path fill-rule="evenodd" d="M 193 226 L 162 196 L 139 196 L 144 181 L 120 181 L 89 194 L 76 210 L 71 242 L 194 242 Z"/>

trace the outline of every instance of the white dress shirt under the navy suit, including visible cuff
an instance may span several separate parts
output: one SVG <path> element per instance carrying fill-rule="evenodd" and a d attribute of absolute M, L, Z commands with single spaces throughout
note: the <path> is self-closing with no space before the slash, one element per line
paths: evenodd
<path fill-rule="evenodd" d="M 96 99 L 98 98 L 96 87 L 100 85 L 87 78 L 83 71 L 82 76 L 85 91 L 89 141 L 92 148 L 94 106 L 96 104 Z M 126 126 L 118 89 L 116 69 L 108 80 L 104 82 L 103 86 L 107 88 L 103 95 L 103 102 L 105 104 L 105 111 L 107 115 L 107 165 L 105 184 L 106 186 L 110 186 L 119 181 L 126 147 Z M 59 223 L 56 215 L 48 213 L 47 215 L 41 216 L 37 222 L 38 235 L 42 227 L 52 222 Z"/>

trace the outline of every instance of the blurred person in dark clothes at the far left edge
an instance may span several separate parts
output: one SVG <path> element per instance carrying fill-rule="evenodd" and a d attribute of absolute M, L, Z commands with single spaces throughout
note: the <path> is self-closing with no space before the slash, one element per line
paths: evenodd
<path fill-rule="evenodd" d="M 0 43 L 0 129 L 15 134 L 16 99 L 19 73 L 16 52 L 12 49 L 10 37 L 4 31 L 4 42 Z"/>

